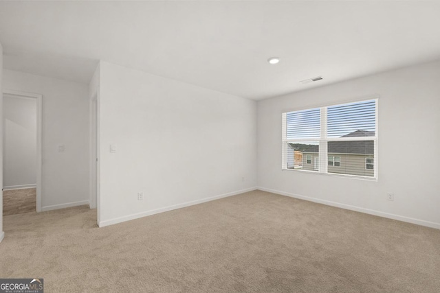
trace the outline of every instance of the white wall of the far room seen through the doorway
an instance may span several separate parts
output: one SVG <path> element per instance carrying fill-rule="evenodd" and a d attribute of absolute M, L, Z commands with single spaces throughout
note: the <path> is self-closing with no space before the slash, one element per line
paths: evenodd
<path fill-rule="evenodd" d="M 36 99 L 3 95 L 3 189 L 36 186 Z"/>

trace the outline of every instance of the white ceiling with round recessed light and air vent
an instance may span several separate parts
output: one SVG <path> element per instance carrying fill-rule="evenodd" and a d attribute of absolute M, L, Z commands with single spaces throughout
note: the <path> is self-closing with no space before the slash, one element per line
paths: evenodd
<path fill-rule="evenodd" d="M 105 60 L 263 99 L 440 59 L 440 2 L 2 1 L 0 43 L 6 69 L 88 83 Z"/>

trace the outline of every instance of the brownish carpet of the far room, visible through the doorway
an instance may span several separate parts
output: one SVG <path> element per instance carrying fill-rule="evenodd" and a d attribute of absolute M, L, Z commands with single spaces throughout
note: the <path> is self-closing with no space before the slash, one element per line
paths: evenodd
<path fill-rule="evenodd" d="M 36 188 L 3 191 L 3 215 L 36 211 Z"/>

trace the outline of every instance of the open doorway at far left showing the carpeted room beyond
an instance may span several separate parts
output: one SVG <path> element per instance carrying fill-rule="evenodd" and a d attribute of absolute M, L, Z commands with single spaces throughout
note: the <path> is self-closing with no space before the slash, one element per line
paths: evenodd
<path fill-rule="evenodd" d="M 3 90 L 3 216 L 41 211 L 42 99 Z"/>

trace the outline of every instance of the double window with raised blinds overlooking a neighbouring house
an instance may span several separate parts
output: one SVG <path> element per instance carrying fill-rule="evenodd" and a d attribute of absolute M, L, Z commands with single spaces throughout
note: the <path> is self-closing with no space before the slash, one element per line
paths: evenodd
<path fill-rule="evenodd" d="M 283 169 L 377 178 L 376 121 L 377 99 L 283 113 Z"/>

